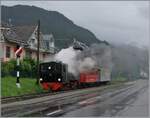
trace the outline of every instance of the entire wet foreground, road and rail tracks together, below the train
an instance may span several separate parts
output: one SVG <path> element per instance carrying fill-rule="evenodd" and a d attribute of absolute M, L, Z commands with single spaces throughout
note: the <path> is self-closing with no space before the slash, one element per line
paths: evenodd
<path fill-rule="evenodd" d="M 2 104 L 2 116 L 148 116 L 148 80 Z"/>

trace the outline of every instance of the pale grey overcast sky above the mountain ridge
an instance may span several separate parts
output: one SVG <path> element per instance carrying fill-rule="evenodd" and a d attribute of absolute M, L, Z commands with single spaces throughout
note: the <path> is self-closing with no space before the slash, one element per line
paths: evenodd
<path fill-rule="evenodd" d="M 149 1 L 2 1 L 58 11 L 100 40 L 149 45 Z"/>

